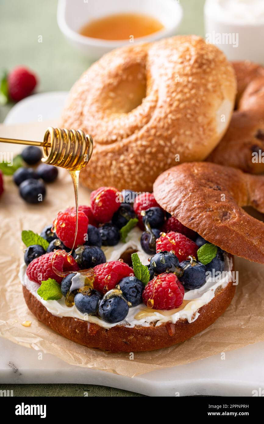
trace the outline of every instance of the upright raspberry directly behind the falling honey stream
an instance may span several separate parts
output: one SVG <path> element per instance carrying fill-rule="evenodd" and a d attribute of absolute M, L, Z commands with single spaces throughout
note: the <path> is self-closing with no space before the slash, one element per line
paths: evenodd
<path fill-rule="evenodd" d="M 78 212 L 78 231 L 74 248 L 85 242 L 85 234 L 88 229 L 88 218 L 84 212 Z M 76 213 L 59 212 L 53 222 L 58 238 L 66 247 L 72 248 L 75 237 Z"/>

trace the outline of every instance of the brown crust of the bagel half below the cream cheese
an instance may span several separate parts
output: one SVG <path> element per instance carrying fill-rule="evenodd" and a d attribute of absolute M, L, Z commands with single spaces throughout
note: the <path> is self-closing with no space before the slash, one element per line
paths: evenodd
<path fill-rule="evenodd" d="M 159 326 L 126 327 L 116 325 L 109 329 L 97 324 L 88 324 L 79 318 L 59 317 L 51 314 L 44 305 L 25 287 L 23 294 L 31 312 L 51 329 L 62 336 L 90 348 L 112 352 L 150 351 L 181 343 L 203 331 L 222 315 L 235 294 L 236 286 L 229 282 L 219 287 L 214 298 L 201 307 L 198 318 L 189 323 L 180 319 L 175 324 L 167 322 Z"/>

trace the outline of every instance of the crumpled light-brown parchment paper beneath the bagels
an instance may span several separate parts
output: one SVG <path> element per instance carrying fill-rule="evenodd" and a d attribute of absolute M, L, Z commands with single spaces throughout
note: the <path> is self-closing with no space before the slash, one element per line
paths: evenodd
<path fill-rule="evenodd" d="M 42 128 L 41 131 L 43 134 Z M 17 132 L 23 138 L 23 128 L 17 126 Z M 4 148 L 6 145 L 0 145 L 0 151 Z M 87 203 L 89 191 L 81 187 L 80 204 Z M 231 305 L 213 325 L 184 343 L 158 351 L 134 352 L 131 360 L 129 353 L 89 349 L 53 332 L 31 314 L 22 295 L 18 278 L 19 265 L 23 261 L 21 232 L 23 229 L 40 232 L 59 210 L 69 205 L 74 205 L 74 193 L 66 170 L 59 170 L 58 181 L 47 185 L 47 197 L 37 205 L 26 204 L 19 197 L 11 177 L 5 178 L 5 192 L 0 197 L 0 336 L 54 354 L 72 365 L 127 377 L 193 362 L 264 340 L 264 265 L 240 258 L 235 258 L 239 284 Z M 22 326 L 24 321 L 32 321 L 31 326 Z"/>

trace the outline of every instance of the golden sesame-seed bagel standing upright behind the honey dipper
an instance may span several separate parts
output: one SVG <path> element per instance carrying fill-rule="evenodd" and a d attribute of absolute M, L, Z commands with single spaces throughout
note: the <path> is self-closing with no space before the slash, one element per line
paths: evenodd
<path fill-rule="evenodd" d="M 203 160 L 233 111 L 233 67 L 198 36 L 175 36 L 107 53 L 75 83 L 64 128 L 92 135 L 94 152 L 81 172 L 90 189 L 152 190 L 179 162 Z"/>

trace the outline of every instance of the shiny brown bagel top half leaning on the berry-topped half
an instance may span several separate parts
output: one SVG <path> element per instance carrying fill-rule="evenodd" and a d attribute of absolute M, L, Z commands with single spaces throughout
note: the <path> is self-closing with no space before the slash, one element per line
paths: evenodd
<path fill-rule="evenodd" d="M 183 163 L 153 185 L 158 204 L 223 250 L 264 263 L 264 223 L 242 206 L 264 212 L 264 176 L 209 162 Z"/>

